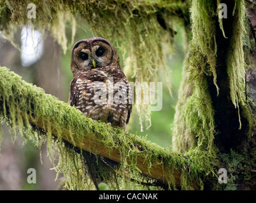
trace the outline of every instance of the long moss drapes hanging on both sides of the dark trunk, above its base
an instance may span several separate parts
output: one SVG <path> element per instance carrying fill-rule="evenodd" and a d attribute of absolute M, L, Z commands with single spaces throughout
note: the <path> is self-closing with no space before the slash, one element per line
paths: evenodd
<path fill-rule="evenodd" d="M 212 77 L 218 95 L 217 25 L 225 36 L 222 18 L 218 16 L 220 1 L 192 1 L 191 22 L 192 41 L 183 67 L 183 81 L 179 90 L 173 130 L 173 148 L 187 152 L 190 148 L 200 148 L 215 152 L 215 117 L 207 79 Z M 245 60 L 243 46 L 245 40 L 246 10 L 243 1 L 234 3 L 233 30 L 229 51 L 227 51 L 227 74 L 230 97 L 238 108 L 238 121 L 241 128 L 239 107 L 249 124 L 248 134 L 252 134 L 252 115 L 245 105 Z M 218 16 L 218 17 L 217 17 Z M 225 71 L 225 70 L 223 70 Z"/>

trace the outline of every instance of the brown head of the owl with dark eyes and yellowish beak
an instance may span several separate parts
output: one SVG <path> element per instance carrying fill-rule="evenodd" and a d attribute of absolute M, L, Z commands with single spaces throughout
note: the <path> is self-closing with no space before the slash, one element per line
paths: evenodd
<path fill-rule="evenodd" d="M 117 51 L 104 38 L 83 39 L 78 41 L 72 49 L 71 71 L 74 76 L 82 69 L 99 69 L 118 65 Z"/>

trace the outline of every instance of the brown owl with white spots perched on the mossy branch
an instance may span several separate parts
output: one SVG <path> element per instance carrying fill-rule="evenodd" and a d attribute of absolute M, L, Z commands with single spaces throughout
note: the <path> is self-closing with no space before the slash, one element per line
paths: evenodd
<path fill-rule="evenodd" d="M 69 103 L 85 116 L 125 129 L 132 110 L 129 82 L 109 41 L 93 37 L 72 50 Z"/>

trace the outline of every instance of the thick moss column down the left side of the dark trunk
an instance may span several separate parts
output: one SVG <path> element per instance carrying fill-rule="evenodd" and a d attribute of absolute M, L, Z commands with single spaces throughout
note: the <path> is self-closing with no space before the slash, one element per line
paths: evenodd
<path fill-rule="evenodd" d="M 173 129 L 173 148 L 179 152 L 199 148 L 214 154 L 214 111 L 206 81 L 207 75 L 213 75 L 218 93 L 214 8 L 214 1 L 192 1 L 190 8 L 193 35 L 183 66 Z"/>

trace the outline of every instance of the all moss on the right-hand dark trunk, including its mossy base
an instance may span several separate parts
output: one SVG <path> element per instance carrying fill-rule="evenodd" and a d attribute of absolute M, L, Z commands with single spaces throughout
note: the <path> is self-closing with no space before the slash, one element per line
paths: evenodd
<path fill-rule="evenodd" d="M 253 175 L 248 168 L 253 168 L 255 164 L 248 157 L 253 157 L 246 153 L 241 154 L 231 150 L 230 154 L 219 154 L 214 145 L 215 117 L 208 89 L 209 78 L 213 78 L 213 84 L 217 88 L 218 75 L 216 72 L 217 43 L 216 25 L 219 24 L 222 34 L 225 37 L 222 19 L 217 18 L 215 8 L 220 1 L 192 1 L 191 21 L 192 40 L 190 48 L 183 65 L 183 79 L 179 90 L 179 99 L 176 105 L 173 128 L 173 149 L 178 152 L 190 152 L 199 150 L 202 154 L 208 154 L 208 164 L 204 167 L 215 166 L 217 170 L 211 171 L 214 179 L 210 182 L 216 183 L 211 188 L 222 190 L 237 190 L 253 188 Z M 231 35 L 229 51 L 227 52 L 227 75 L 229 79 L 230 98 L 235 108 L 238 109 L 238 121 L 241 128 L 241 118 L 248 122 L 248 143 L 251 143 L 252 128 L 255 128 L 255 118 L 253 117 L 248 103 L 245 101 L 245 60 L 243 46 L 247 46 L 245 32 L 246 10 L 243 1 L 236 1 L 233 11 L 233 33 Z M 217 22 L 218 20 L 218 22 Z M 228 95 L 227 95 L 228 96 Z M 244 147 L 244 146 L 243 146 Z M 252 148 L 252 152 L 255 152 Z M 218 162 L 219 161 L 219 162 Z M 211 164 L 215 162 L 218 164 Z M 217 166 L 219 165 L 219 166 Z M 228 173 L 228 184 L 220 185 L 215 182 L 221 167 L 225 167 Z M 245 183 L 239 186 L 239 181 Z"/>

